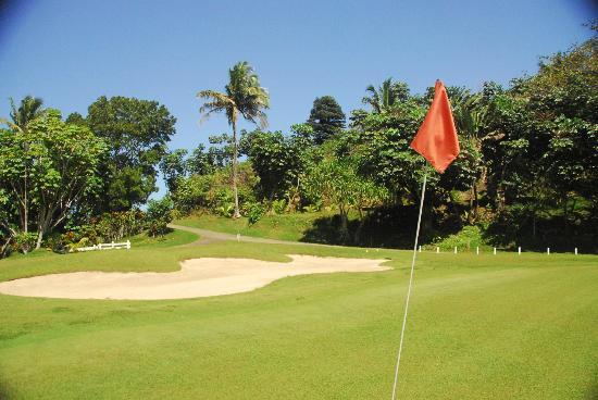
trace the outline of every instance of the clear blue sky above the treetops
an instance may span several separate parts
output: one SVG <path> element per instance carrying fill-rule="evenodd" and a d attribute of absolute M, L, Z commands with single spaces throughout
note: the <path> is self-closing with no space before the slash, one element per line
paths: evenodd
<path fill-rule="evenodd" d="M 5 4 L 5 2 L 3 2 Z M 1 8 L 1 5 L 0 5 Z M 222 90 L 247 60 L 271 95 L 271 129 L 303 122 L 315 97 L 345 112 L 388 76 L 478 89 L 534 73 L 585 40 L 591 1 L 12 1 L 0 14 L 0 115 L 43 98 L 64 115 L 99 96 L 158 100 L 178 118 L 171 148 L 227 132 L 198 125 L 198 90 Z M 246 125 L 247 127 L 247 125 Z"/>

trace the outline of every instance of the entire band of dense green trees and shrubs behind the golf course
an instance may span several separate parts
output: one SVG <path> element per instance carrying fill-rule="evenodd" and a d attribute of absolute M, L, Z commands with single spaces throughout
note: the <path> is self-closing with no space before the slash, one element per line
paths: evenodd
<path fill-rule="evenodd" d="M 203 117 L 224 113 L 232 132 L 192 151 L 166 149 L 176 120 L 155 101 L 100 97 L 87 116 L 63 121 L 41 99 L 11 100 L 0 130 L 0 255 L 142 229 L 161 235 L 173 212 L 195 211 L 242 214 L 250 224 L 264 214 L 334 211 L 310 238 L 322 227 L 328 242 L 408 246 L 424 174 L 424 243 L 456 242 L 451 235 L 465 228 L 476 243 L 596 251 L 597 50 L 595 36 L 509 87 L 447 87 L 461 153 L 441 175 L 409 147 L 433 88 L 412 93 L 391 78 L 366 87 L 366 110 L 353 110 L 348 126 L 324 96 L 307 123 L 267 132 L 267 91 L 237 63 L 223 92 L 198 95 Z M 239 136 L 239 117 L 259 128 Z M 158 167 L 169 195 L 148 203 Z"/>

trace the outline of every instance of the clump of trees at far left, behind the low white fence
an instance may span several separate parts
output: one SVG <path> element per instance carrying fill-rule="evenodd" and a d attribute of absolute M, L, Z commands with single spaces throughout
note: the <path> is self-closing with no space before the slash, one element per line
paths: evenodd
<path fill-rule="evenodd" d="M 157 190 L 155 166 L 176 120 L 155 101 L 124 97 L 101 97 L 87 117 L 65 121 L 41 105 L 30 96 L 18 108 L 11 100 L 11 121 L 0 129 L 0 257 L 147 228 L 137 208 Z M 128 218 L 114 234 L 107 226 L 123 220 L 117 215 Z"/>

